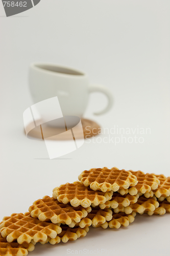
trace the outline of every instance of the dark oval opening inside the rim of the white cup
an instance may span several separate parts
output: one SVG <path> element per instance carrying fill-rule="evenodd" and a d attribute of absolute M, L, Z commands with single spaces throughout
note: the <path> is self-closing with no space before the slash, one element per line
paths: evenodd
<path fill-rule="evenodd" d="M 77 71 L 77 70 L 60 67 L 60 66 L 55 66 L 55 65 L 53 66 L 50 64 L 48 64 L 48 65 L 47 64 L 36 64 L 35 67 L 37 67 L 39 69 L 43 69 L 43 70 L 47 70 L 47 71 L 51 71 L 51 72 L 55 72 L 55 73 L 67 74 L 67 75 L 78 75 L 78 76 L 84 75 L 82 72 Z"/>

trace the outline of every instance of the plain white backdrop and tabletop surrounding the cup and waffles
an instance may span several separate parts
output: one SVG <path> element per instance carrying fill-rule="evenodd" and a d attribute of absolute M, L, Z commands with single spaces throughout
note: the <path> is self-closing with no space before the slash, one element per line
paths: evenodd
<path fill-rule="evenodd" d="M 14 17 L 1 15 L 1 197 L 0 219 L 25 212 L 54 187 L 78 179 L 91 167 L 141 169 L 169 175 L 169 1 L 45 0 Z M 21 17 L 20 17 L 21 16 Z M 78 150 L 49 160 L 44 141 L 23 133 L 23 112 L 32 105 L 28 67 L 33 61 L 83 70 L 114 95 L 103 116 L 101 94 L 90 96 L 85 113 L 104 128 L 151 129 L 143 143 L 89 140 Z M 149 130 L 148 130 L 149 131 Z M 113 130 L 112 130 L 113 132 Z M 141 137 L 140 134 L 123 137 Z M 96 143 L 104 138 L 107 143 Z M 130 139 L 129 139 L 130 140 Z M 118 141 L 118 139 L 116 139 Z M 138 141 L 138 140 L 137 140 Z M 67 255 L 71 250 L 114 249 L 101 255 L 168 255 L 170 216 L 138 216 L 128 228 L 92 229 L 84 239 L 36 245 L 29 255 Z M 100 254 L 99 254 L 100 255 Z"/>

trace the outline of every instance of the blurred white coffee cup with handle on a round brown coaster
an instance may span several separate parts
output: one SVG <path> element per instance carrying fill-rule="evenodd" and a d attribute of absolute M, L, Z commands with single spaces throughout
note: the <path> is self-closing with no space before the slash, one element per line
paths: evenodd
<path fill-rule="evenodd" d="M 94 113 L 95 115 L 106 113 L 113 103 L 109 89 L 98 84 L 90 84 L 88 75 L 84 72 L 52 63 L 32 63 L 29 84 L 34 103 L 57 96 L 63 116 L 81 118 L 91 92 L 102 92 L 108 98 L 106 108 Z"/>

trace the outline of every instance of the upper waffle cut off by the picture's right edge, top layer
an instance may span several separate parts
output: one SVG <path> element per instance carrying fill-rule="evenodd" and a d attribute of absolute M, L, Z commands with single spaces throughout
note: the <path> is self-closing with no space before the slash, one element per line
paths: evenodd
<path fill-rule="evenodd" d="M 164 175 L 156 175 L 154 174 L 158 180 L 160 181 L 160 184 L 158 185 L 158 188 L 153 190 L 154 195 L 157 198 L 160 197 L 169 197 L 170 196 L 170 177 L 165 177 Z"/>

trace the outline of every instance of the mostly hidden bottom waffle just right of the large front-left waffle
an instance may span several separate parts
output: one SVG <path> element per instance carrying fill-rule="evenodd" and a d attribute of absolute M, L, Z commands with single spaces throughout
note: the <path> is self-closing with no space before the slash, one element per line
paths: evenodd
<path fill-rule="evenodd" d="M 58 243 L 60 243 L 60 241 L 62 241 L 63 243 L 66 243 L 68 241 L 75 241 L 78 238 L 85 237 L 87 232 L 89 231 L 88 227 L 70 228 L 68 226 L 61 225 L 61 228 L 62 228 L 62 231 L 60 234 L 57 235 L 56 238 L 54 238 L 54 239 L 48 238 L 45 243 L 49 242 L 51 244 L 58 244 Z"/>

